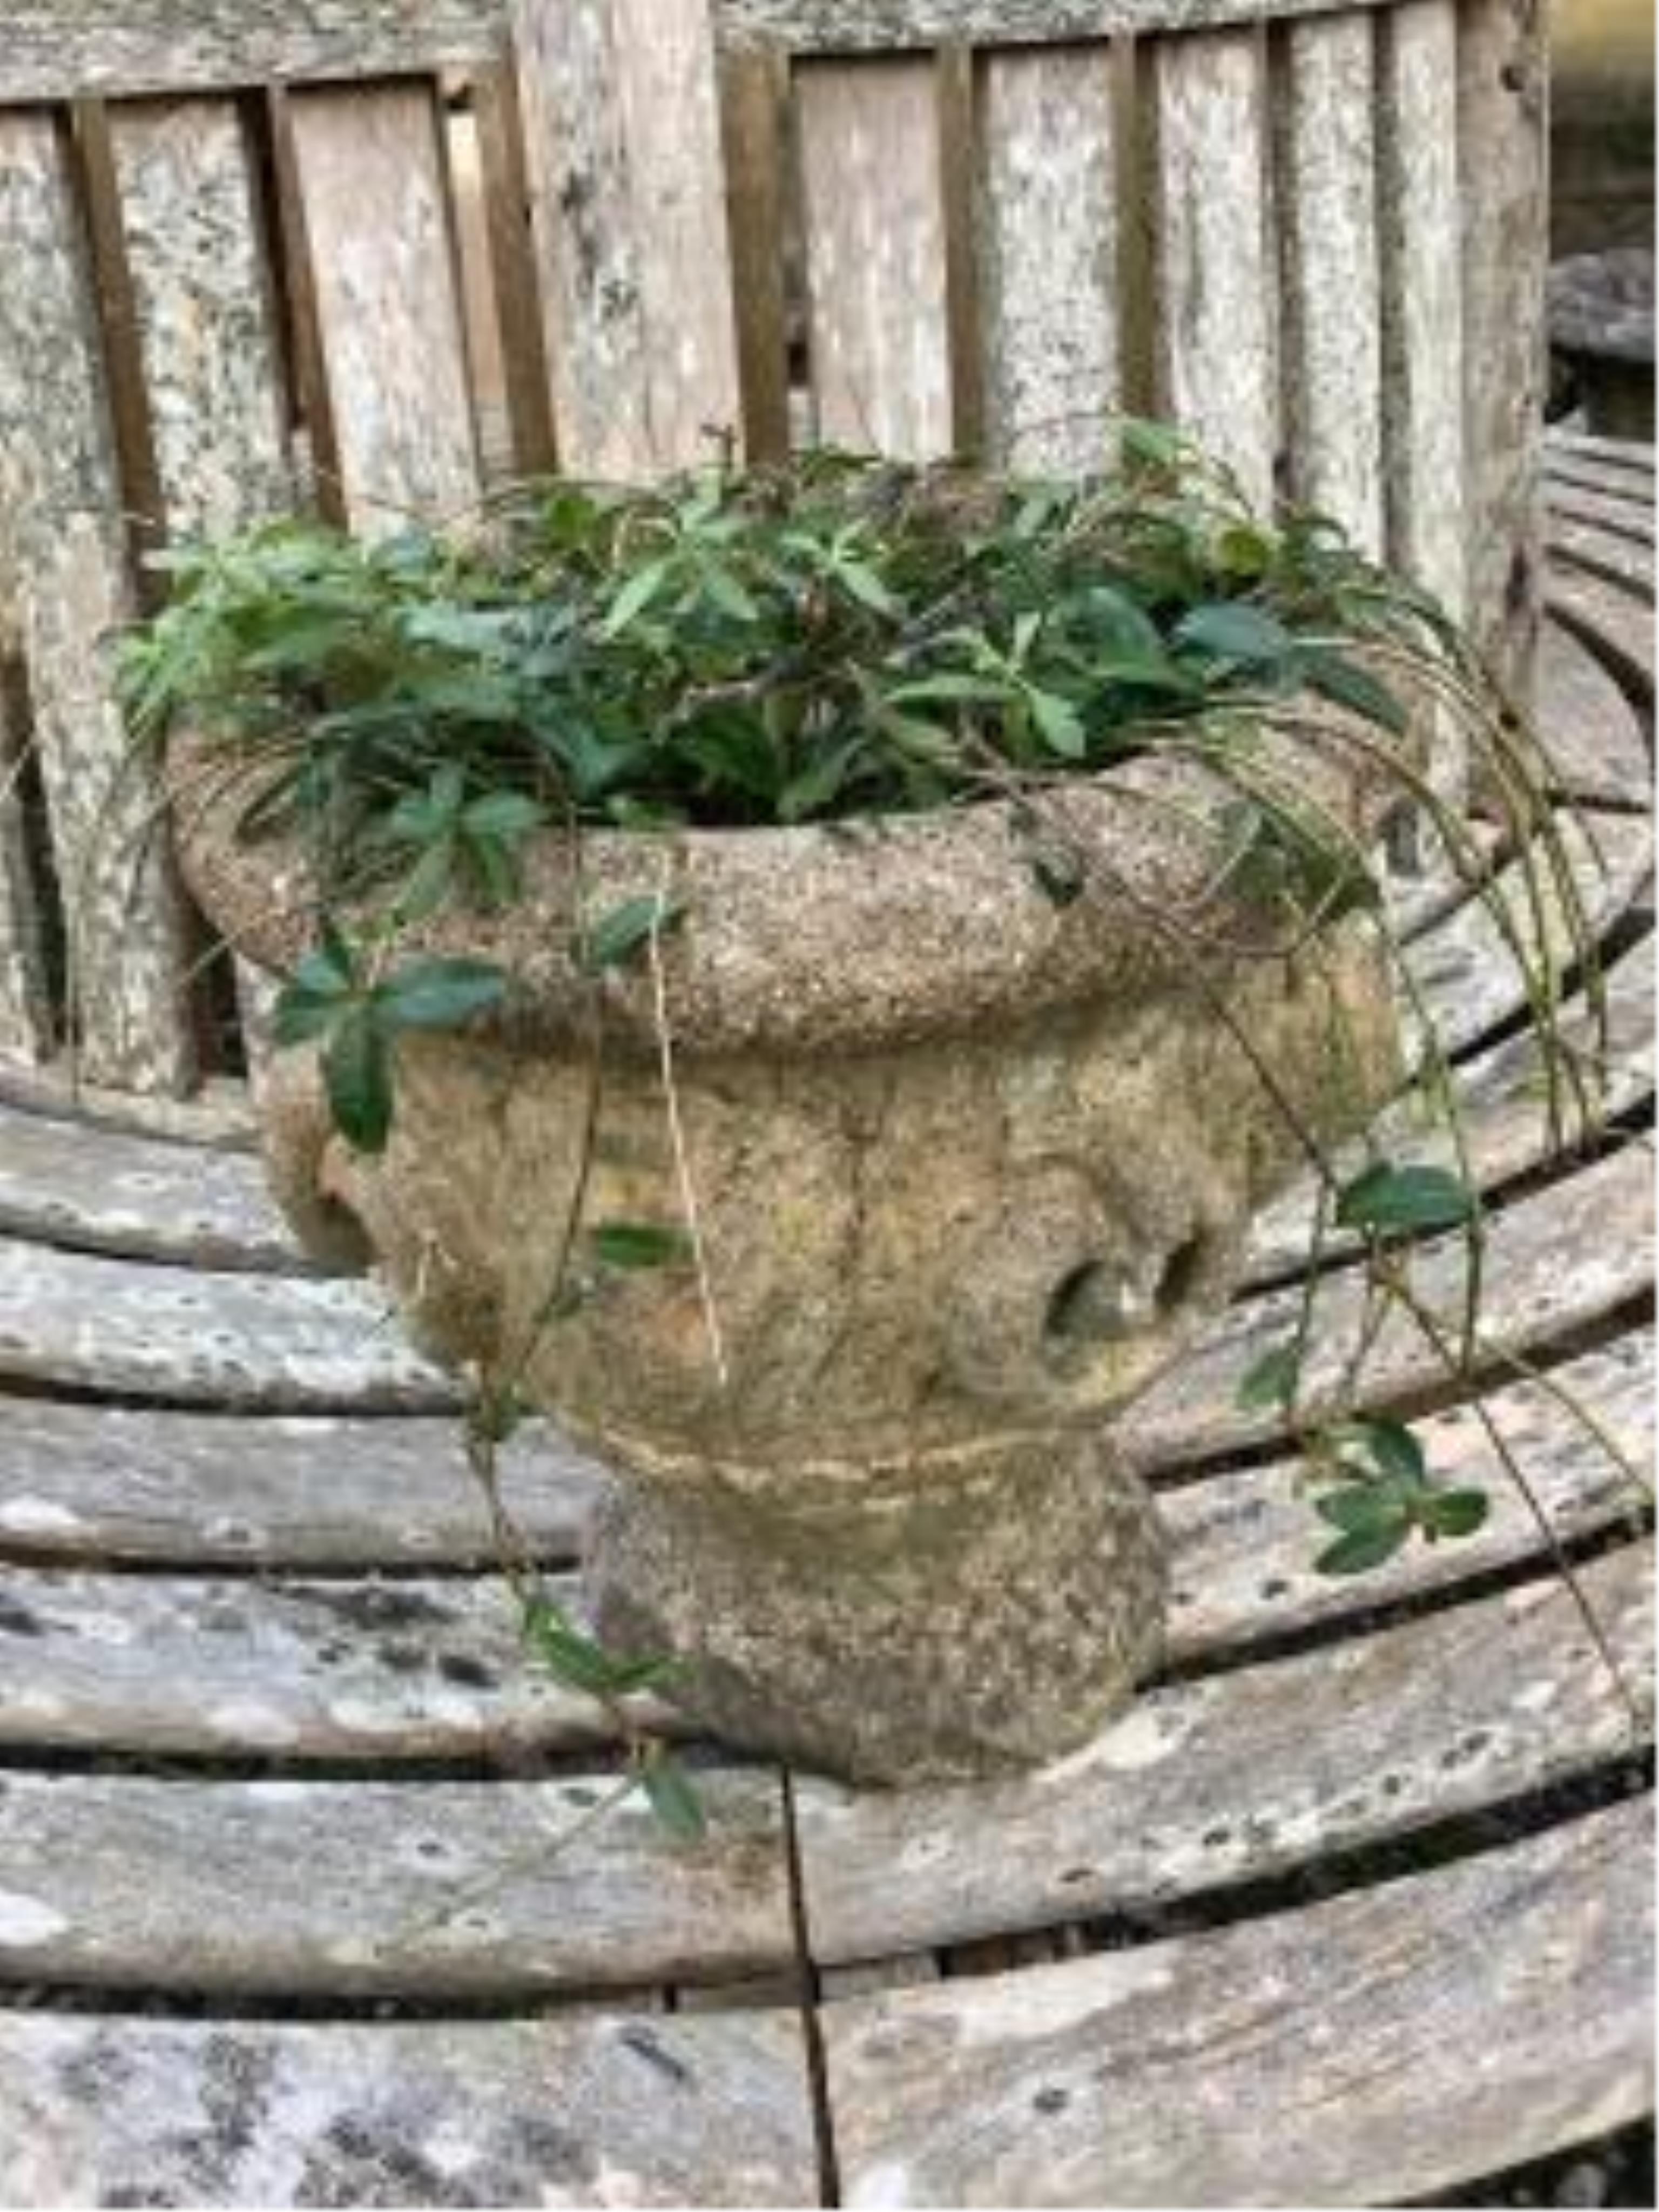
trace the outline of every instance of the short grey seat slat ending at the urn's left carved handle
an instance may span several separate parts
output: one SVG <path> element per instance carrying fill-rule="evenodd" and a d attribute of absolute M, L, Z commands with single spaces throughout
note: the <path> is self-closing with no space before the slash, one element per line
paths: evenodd
<path fill-rule="evenodd" d="M 192 1267 L 310 1272 L 257 1159 L 0 1102 L 0 1232 Z"/>

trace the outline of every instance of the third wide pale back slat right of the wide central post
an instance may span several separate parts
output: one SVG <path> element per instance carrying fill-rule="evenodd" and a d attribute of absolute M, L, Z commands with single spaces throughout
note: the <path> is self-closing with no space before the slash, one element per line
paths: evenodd
<path fill-rule="evenodd" d="M 1267 502 L 1279 451 L 1267 82 L 1254 31 L 1148 40 L 1159 405 Z"/>

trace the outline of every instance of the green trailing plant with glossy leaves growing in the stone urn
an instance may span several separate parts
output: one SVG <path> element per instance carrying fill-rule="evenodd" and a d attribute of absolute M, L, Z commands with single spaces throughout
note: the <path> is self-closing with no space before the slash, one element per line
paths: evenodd
<path fill-rule="evenodd" d="M 358 1155 L 376 1159 L 394 1141 L 411 1040 L 480 1018 L 484 1033 L 507 1035 L 531 1022 L 522 971 L 453 947 L 467 929 L 511 936 L 513 916 L 544 896 L 549 849 L 560 856 L 555 995 L 588 1068 L 582 1159 L 538 1294 L 511 1340 L 478 1358 L 469 1449 L 531 1641 L 566 1681 L 613 1703 L 666 1816 L 690 1825 L 681 1776 L 624 1703 L 657 1679 L 653 1666 L 617 1659 L 549 1604 L 500 1504 L 495 1449 L 526 1380 L 557 1358 L 549 1338 L 582 1336 L 593 1314 L 602 1327 L 622 1276 L 692 1283 L 708 1363 L 721 1389 L 730 1380 L 666 984 L 670 962 L 695 951 L 677 945 L 681 922 L 695 936 L 708 920 L 688 916 L 675 874 L 699 838 L 821 827 L 803 854 L 825 841 L 856 852 L 938 818 L 978 836 L 995 814 L 995 836 L 1055 918 L 1055 945 L 1115 905 L 1144 940 L 1141 967 L 1177 975 L 1206 1033 L 1252 1071 L 1287 1159 L 1312 1170 L 1316 1256 L 1332 1232 L 1358 1241 L 1365 1340 L 1402 1314 L 1453 1369 L 1482 1358 L 1473 1181 L 1365 1141 L 1338 1164 L 1332 1128 L 1389 1088 L 1365 1066 L 1365 1040 L 1345 1033 L 1343 989 L 1332 982 L 1325 1000 L 1329 1099 L 1316 1086 L 1310 1108 L 1307 1066 L 1276 1062 L 1279 1033 L 1252 1029 L 1254 998 L 1234 975 L 1283 967 L 1318 984 L 1325 947 L 1360 933 L 1409 993 L 1376 832 L 1391 807 L 1411 807 L 1515 953 L 1555 1126 L 1593 1124 L 1590 1084 L 1557 1035 L 1557 975 L 1528 949 L 1528 916 L 1493 891 L 1464 821 L 1438 801 L 1416 743 L 1425 712 L 1455 723 L 1484 763 L 1524 898 L 1533 916 L 1562 909 L 1590 993 L 1595 951 L 1535 743 L 1482 688 L 1436 606 L 1325 518 L 1265 522 L 1179 438 L 1126 425 L 1117 465 L 1086 482 L 814 453 L 655 491 L 520 487 L 462 531 L 376 544 L 281 522 L 181 549 L 170 571 L 168 608 L 126 650 L 128 703 L 139 730 L 184 732 L 170 772 L 186 818 L 232 794 L 248 854 L 301 856 L 312 945 L 288 962 L 276 1035 L 316 1046 L 334 1128 Z M 1334 757 L 1338 783 L 1325 772 Z M 1110 845 L 1079 830 L 1079 787 L 1133 799 L 1172 852 L 1199 838 L 1203 896 L 1190 909 L 1159 902 L 1119 874 Z M 661 852 L 646 889 L 635 869 L 617 896 L 606 860 L 617 838 Z M 891 911 L 902 927 L 909 909 Z M 971 964 L 973 949 L 958 951 Z M 644 1006 L 655 1037 L 675 1197 L 644 1217 L 595 1210 L 593 1190 L 628 1004 Z M 690 1004 L 695 1029 L 695 993 Z M 717 1015 L 710 1053 L 730 1048 Z M 1458 1161 L 1431 1026 L 1425 1077 Z M 1409 1239 L 1447 1230 L 1469 1245 L 1467 1312 L 1451 1332 L 1409 1272 Z M 1186 1303 L 1177 1276 L 1203 1272 L 1206 1239 L 1181 1243 L 1155 1303 Z M 1044 1356 L 1066 1387 L 1104 1360 L 1104 1405 L 1146 1367 L 1119 1358 L 1141 1292 L 1102 1283 L 1095 1265 L 1064 1272 Z M 1301 1325 L 1259 1363 L 1245 1398 L 1281 1411 L 1303 1451 L 1325 1522 L 1321 1571 L 1371 1568 L 1411 1537 L 1469 1535 L 1484 1495 L 1438 1484 L 1402 1422 L 1358 1416 L 1365 1347 L 1340 1402 L 1303 1418 L 1312 1312 L 1310 1276 Z M 699 1436 L 697 1451 L 708 1449 Z M 958 1451 L 956 1431 L 927 1449 Z M 684 1540 L 695 1548 L 703 1535 Z"/>

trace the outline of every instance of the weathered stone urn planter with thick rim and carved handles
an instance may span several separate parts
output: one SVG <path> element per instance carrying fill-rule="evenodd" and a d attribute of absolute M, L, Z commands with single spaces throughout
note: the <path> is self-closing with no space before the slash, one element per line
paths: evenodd
<path fill-rule="evenodd" d="M 1279 765 L 1376 830 L 1340 745 Z M 292 849 L 234 841 L 237 805 L 190 810 L 186 865 L 283 971 L 314 894 Z M 1283 918 L 1225 867 L 1230 807 L 1219 776 L 1144 754 L 1053 785 L 1037 821 L 586 838 L 586 914 L 679 911 L 661 984 L 719 1358 L 695 1270 L 599 1265 L 588 1237 L 546 1318 L 588 1133 L 588 1232 L 686 1212 L 648 964 L 599 987 L 591 1106 L 562 841 L 522 905 L 409 940 L 500 960 L 513 995 L 400 1046 L 385 1157 L 332 1133 L 307 1055 L 279 1060 L 268 1157 L 301 1237 L 374 1259 L 440 1356 L 524 1360 L 526 1396 L 619 1478 L 597 1630 L 672 1652 L 672 1694 L 721 1736 L 863 1781 L 978 1774 L 1082 1745 L 1155 1663 L 1164 1535 L 1113 1416 L 1237 1283 L 1298 1159 L 1283 1108 L 1334 1135 L 1396 1075 L 1371 938 L 1276 953 Z"/>

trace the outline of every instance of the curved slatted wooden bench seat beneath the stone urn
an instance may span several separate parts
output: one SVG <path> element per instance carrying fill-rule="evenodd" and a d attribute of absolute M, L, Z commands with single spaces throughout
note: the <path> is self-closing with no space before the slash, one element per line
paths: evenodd
<path fill-rule="evenodd" d="M 1639 1697 L 1646 1517 L 1557 1391 L 1648 1455 L 1650 677 L 1639 624 L 1584 608 L 1641 608 L 1652 507 L 1624 453 L 1551 467 L 1608 1141 L 1546 1159 L 1471 905 L 1420 894 L 1413 962 L 1495 1208 L 1484 1416 Z M 91 1119 L 7 1110 L 0 1219 L 0 1283 L 33 1285 L 0 1305 L 15 2201 L 1378 2203 L 1650 2110 L 1646 1723 L 1405 1343 L 1374 1398 L 1425 1409 L 1491 1524 L 1312 1575 L 1294 1467 L 1232 1402 L 1294 1210 L 1135 1416 L 1172 1646 L 1088 1754 L 883 1796 L 695 1747 L 708 1845 L 622 1809 L 557 1854 L 615 1747 L 526 1674 L 440 1378 L 372 1292 L 305 1276 L 248 1152 Z M 1332 1340 L 1349 1290 L 1334 1250 Z M 597 1480 L 518 1453 L 551 1566 Z"/>

